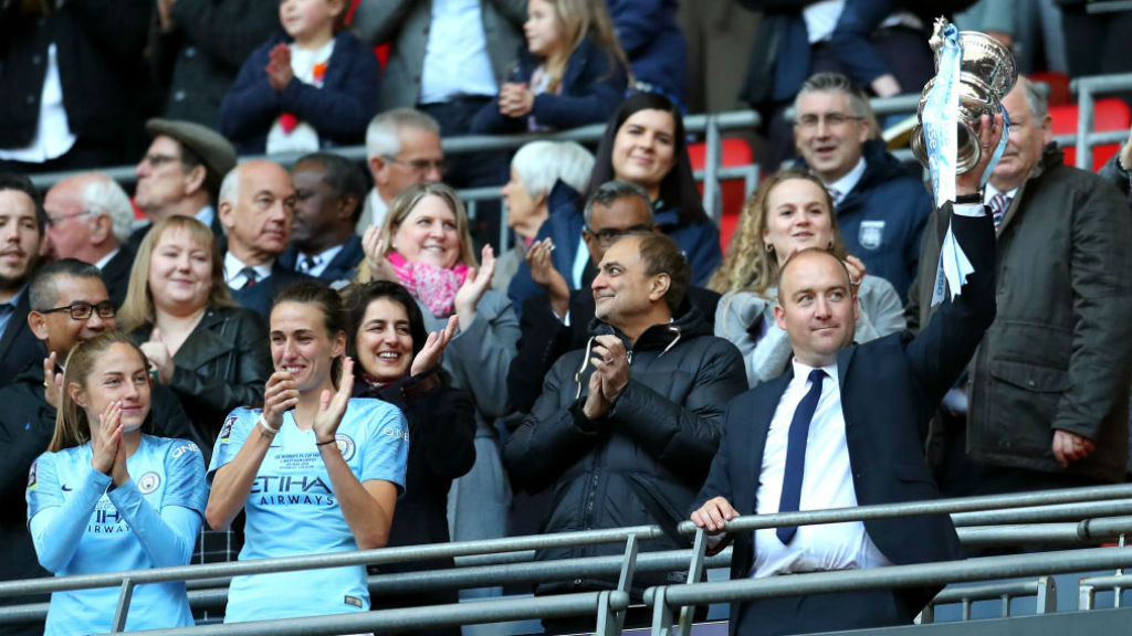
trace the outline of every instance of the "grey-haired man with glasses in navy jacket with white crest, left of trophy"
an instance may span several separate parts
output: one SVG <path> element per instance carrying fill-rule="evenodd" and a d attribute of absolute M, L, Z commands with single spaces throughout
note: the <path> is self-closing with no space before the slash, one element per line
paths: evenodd
<path fill-rule="evenodd" d="M 906 299 L 932 214 L 927 189 L 885 151 L 868 98 L 848 77 L 812 76 L 794 110 L 803 167 L 829 189 L 849 253 Z"/>

